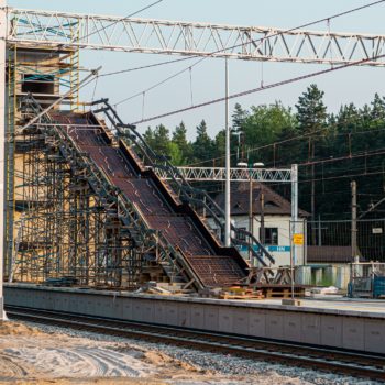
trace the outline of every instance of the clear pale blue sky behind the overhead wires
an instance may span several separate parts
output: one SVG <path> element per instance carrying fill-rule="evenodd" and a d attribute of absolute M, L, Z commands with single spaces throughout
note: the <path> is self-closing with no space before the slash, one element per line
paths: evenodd
<path fill-rule="evenodd" d="M 10 7 L 61 10 L 80 13 L 113 14 L 125 16 L 153 0 L 9 0 Z M 317 19 L 326 18 L 371 1 L 362 0 L 164 0 L 138 16 L 157 18 L 180 21 L 201 21 L 234 25 L 263 25 L 277 28 L 295 28 Z M 370 9 L 336 19 L 331 22 L 333 32 L 358 32 L 385 35 L 385 2 Z M 311 30 L 327 30 L 326 23 Z M 88 68 L 102 65 L 102 72 L 131 68 L 144 64 L 156 63 L 167 58 L 165 55 L 144 55 L 109 52 L 81 52 L 81 64 Z M 142 70 L 113 76 L 98 81 L 97 97 L 108 97 L 111 102 L 142 91 L 167 76 L 185 68 L 188 63 L 179 63 L 158 67 L 156 70 Z M 230 61 L 230 92 L 257 87 L 262 78 L 262 65 L 258 62 Z M 315 72 L 324 66 L 310 64 L 265 63 L 263 65 L 264 82 L 275 82 L 298 75 Z M 244 108 L 252 105 L 271 103 L 282 100 L 286 106 L 296 103 L 298 96 L 310 82 L 317 82 L 324 90 L 324 100 L 329 111 L 337 111 L 342 103 L 354 102 L 362 106 L 373 99 L 375 92 L 385 96 L 385 68 L 360 67 L 349 68 L 324 75 L 316 79 L 302 80 L 272 90 L 258 92 L 231 101 L 231 109 L 238 101 Z M 224 92 L 223 59 L 207 59 L 193 69 L 195 103 L 218 98 Z M 84 91 L 84 98 L 90 99 L 94 88 Z M 154 116 L 190 105 L 189 75 L 185 73 L 166 85 L 148 92 L 145 101 L 145 117 Z M 142 99 L 138 98 L 119 108 L 119 113 L 127 122 L 142 117 Z M 209 133 L 213 136 L 224 125 L 224 106 L 216 105 L 193 110 L 175 117 L 153 121 L 173 129 L 182 120 L 188 128 L 189 138 L 195 136 L 195 127 L 205 119 Z M 148 124 L 143 124 L 144 130 Z"/>

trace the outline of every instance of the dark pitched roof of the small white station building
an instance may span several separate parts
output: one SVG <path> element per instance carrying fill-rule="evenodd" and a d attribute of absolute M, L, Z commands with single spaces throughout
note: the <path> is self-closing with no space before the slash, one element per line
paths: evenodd
<path fill-rule="evenodd" d="M 253 213 L 261 215 L 261 194 L 264 195 L 264 213 L 277 216 L 290 216 L 292 204 L 282 195 L 275 193 L 266 185 L 254 182 L 253 183 Z M 217 204 L 224 208 L 224 193 L 216 197 Z M 245 216 L 249 215 L 250 205 L 250 185 L 248 182 L 240 183 L 237 190 L 231 194 L 231 215 Z M 300 217 L 308 217 L 309 213 L 299 210 Z"/>

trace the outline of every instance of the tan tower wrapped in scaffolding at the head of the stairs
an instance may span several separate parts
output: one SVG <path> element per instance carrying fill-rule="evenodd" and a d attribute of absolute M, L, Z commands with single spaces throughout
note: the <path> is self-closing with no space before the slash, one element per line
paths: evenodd
<path fill-rule="evenodd" d="M 58 201 L 59 195 L 62 206 L 75 199 L 68 194 L 70 180 L 65 177 L 66 166 L 48 158 L 44 135 L 33 130 L 21 132 L 21 127 L 29 119 L 22 99 L 33 94 L 42 106 L 48 106 L 68 89 L 77 89 L 78 84 L 79 50 L 31 50 L 18 44 L 8 46 L 6 279 L 42 280 L 47 272 L 53 274 L 55 268 L 58 271 L 58 264 L 53 267 L 51 261 L 61 251 L 47 246 L 54 229 L 48 221 L 61 223 L 57 221 L 62 221 L 59 217 L 65 215 L 65 210 L 52 210 L 52 218 L 48 219 L 48 202 L 53 202 L 51 199 Z M 78 97 L 74 92 L 59 108 L 77 110 Z M 50 180 L 59 182 L 57 190 L 53 190 Z M 47 258 L 42 265 L 40 261 L 43 255 Z"/>

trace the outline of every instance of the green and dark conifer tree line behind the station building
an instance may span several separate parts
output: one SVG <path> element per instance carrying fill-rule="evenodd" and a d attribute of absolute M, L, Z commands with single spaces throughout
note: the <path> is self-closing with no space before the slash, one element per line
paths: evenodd
<path fill-rule="evenodd" d="M 359 212 L 364 213 L 385 194 L 385 98 L 375 95 L 363 107 L 343 105 L 328 112 L 324 92 L 310 85 L 295 108 L 280 101 L 232 113 L 231 162 L 266 167 L 299 164 L 299 204 L 314 220 L 348 219 L 351 210 L 351 180 L 358 182 Z M 194 141 L 180 122 L 173 131 L 163 124 L 147 128 L 147 143 L 175 165 L 224 165 L 224 129 L 215 138 L 205 120 L 196 128 Z M 275 186 L 289 197 L 289 186 Z M 367 216 L 384 218 L 378 206 Z"/>

